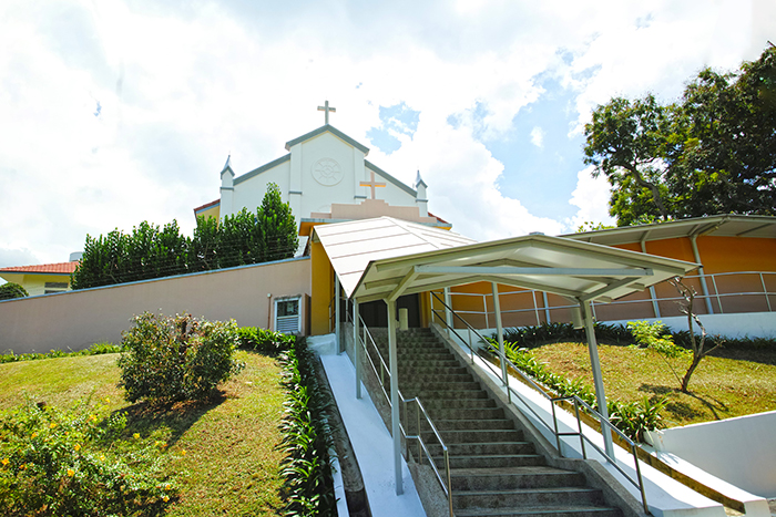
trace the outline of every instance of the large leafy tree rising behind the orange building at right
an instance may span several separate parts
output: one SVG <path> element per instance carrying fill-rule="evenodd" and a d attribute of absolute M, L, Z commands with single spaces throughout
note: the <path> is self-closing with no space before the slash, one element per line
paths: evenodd
<path fill-rule="evenodd" d="M 736 73 L 702 70 L 668 104 L 612 99 L 585 125 L 584 162 L 612 185 L 619 226 L 776 214 L 776 48 Z"/>

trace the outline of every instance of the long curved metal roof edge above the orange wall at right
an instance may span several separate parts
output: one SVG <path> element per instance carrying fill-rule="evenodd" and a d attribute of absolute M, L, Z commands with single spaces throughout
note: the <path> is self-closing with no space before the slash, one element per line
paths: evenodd
<path fill-rule="evenodd" d="M 623 226 L 605 230 L 568 234 L 574 240 L 615 246 L 649 240 L 675 239 L 712 235 L 715 237 L 759 237 L 776 238 L 776 217 L 719 215 L 695 217 L 652 225 Z"/>

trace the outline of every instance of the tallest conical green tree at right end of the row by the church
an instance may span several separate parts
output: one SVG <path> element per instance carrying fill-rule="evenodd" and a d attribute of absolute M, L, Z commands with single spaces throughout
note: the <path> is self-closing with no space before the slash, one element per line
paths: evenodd
<path fill-rule="evenodd" d="M 258 209 L 258 226 L 265 241 L 265 261 L 294 257 L 299 247 L 296 219 L 290 206 L 283 203 L 280 189 L 274 183 L 267 186 L 262 207 Z"/>

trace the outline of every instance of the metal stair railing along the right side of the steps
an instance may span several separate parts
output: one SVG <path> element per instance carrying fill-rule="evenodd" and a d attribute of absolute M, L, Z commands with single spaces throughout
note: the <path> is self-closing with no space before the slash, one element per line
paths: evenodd
<path fill-rule="evenodd" d="M 508 399 L 508 401 L 509 401 L 510 404 L 513 404 L 513 405 L 514 405 L 515 407 L 518 407 L 518 410 L 520 411 L 518 404 L 513 401 L 512 395 L 514 395 L 514 396 L 522 403 L 522 405 L 523 405 L 528 411 L 530 411 L 530 412 L 533 414 L 533 416 L 534 416 L 539 422 L 541 422 L 548 430 L 550 430 L 550 432 L 555 436 L 555 444 L 557 444 L 557 448 L 558 448 L 558 454 L 559 454 L 559 455 L 563 456 L 563 451 L 562 451 L 562 448 L 561 448 L 561 438 L 562 438 L 563 436 L 579 436 L 579 438 L 580 438 L 580 446 L 581 446 L 581 448 L 582 448 L 582 456 L 583 456 L 585 459 L 588 459 L 588 453 L 586 453 L 586 448 L 585 448 L 585 442 L 586 442 L 586 443 L 590 444 L 595 451 L 598 451 L 599 454 L 601 454 L 604 458 L 606 458 L 606 461 L 607 461 L 612 466 L 614 466 L 614 468 L 616 468 L 617 472 L 620 472 L 620 474 L 622 474 L 622 475 L 625 477 L 625 479 L 627 479 L 629 482 L 631 482 L 631 484 L 633 484 L 633 486 L 635 486 L 635 487 L 639 489 L 639 492 L 641 493 L 641 499 L 642 499 L 642 504 L 643 504 L 643 506 L 644 506 L 644 511 L 645 511 L 647 515 L 651 515 L 651 513 L 650 513 L 650 507 L 649 507 L 647 504 L 646 504 L 646 492 L 645 492 L 645 489 L 644 489 L 644 480 L 643 480 L 642 474 L 641 474 L 640 459 L 639 459 L 639 455 L 637 455 L 637 445 L 635 444 L 635 442 L 633 442 L 631 438 L 629 438 L 627 436 L 625 436 L 625 435 L 622 433 L 622 431 L 620 431 L 619 428 L 616 428 L 616 427 L 614 426 L 614 424 L 612 424 L 612 423 L 609 421 L 609 418 L 604 418 L 603 415 L 601 415 L 601 413 L 599 413 L 598 411 L 595 411 L 593 407 L 590 406 L 590 404 L 588 404 L 586 402 L 584 402 L 583 400 L 581 400 L 581 399 L 578 397 L 576 395 L 555 396 L 555 397 L 550 396 L 550 395 L 547 393 L 545 389 L 543 389 L 542 386 L 540 386 L 533 379 L 531 379 L 531 378 L 528 376 L 525 373 L 523 373 L 522 370 L 520 370 L 520 369 L 519 369 L 518 366 L 515 366 L 509 359 L 507 359 L 507 358 L 501 353 L 500 350 L 498 350 L 498 349 L 496 349 L 494 347 L 491 345 L 491 347 L 490 347 L 491 351 L 492 351 L 493 353 L 496 353 L 496 355 L 499 358 L 499 361 L 503 361 L 503 362 L 504 362 L 504 364 L 508 366 L 508 368 L 507 368 L 508 371 L 509 371 L 509 368 L 511 366 L 511 369 L 512 369 L 518 375 L 520 375 L 520 378 L 523 380 L 523 382 L 524 382 L 525 384 L 528 384 L 529 386 L 533 387 L 538 393 L 540 393 L 540 394 L 550 403 L 550 406 L 552 407 L 552 425 L 550 425 L 548 422 L 544 421 L 543 417 L 541 417 L 541 416 L 539 415 L 539 413 L 537 413 L 537 411 L 532 407 L 532 405 L 523 399 L 523 396 L 520 394 L 520 392 L 518 392 L 517 390 L 514 390 L 513 387 L 511 387 L 511 386 L 509 385 L 509 375 L 507 375 L 507 378 L 504 379 L 503 375 L 502 375 L 502 373 L 501 373 L 501 369 L 500 369 L 500 368 L 498 368 L 498 369 L 494 368 L 494 366 L 491 364 L 491 362 L 489 361 L 489 359 L 490 359 L 489 356 L 487 356 L 486 354 L 483 354 L 479 348 L 474 348 L 474 347 L 471 345 L 471 333 L 473 332 L 474 335 L 477 335 L 477 337 L 479 338 L 479 341 L 480 341 L 480 342 L 489 343 L 489 341 L 488 341 L 487 339 L 484 339 L 473 327 L 471 327 L 471 325 L 469 324 L 468 321 L 466 321 L 466 320 L 464 320 L 463 318 L 461 318 L 455 310 L 452 310 L 451 307 L 449 307 L 447 303 L 445 303 L 445 301 L 443 301 L 436 292 L 431 291 L 431 297 L 432 297 L 432 298 L 431 298 L 431 320 L 433 321 L 435 318 L 436 318 L 437 320 L 439 320 L 439 321 L 441 322 L 441 324 L 442 324 L 446 329 L 448 329 L 448 331 L 450 331 L 450 332 L 452 332 L 453 334 L 456 334 L 456 337 L 458 338 L 458 340 L 459 340 L 461 343 L 463 343 L 463 344 L 469 349 L 470 359 L 471 359 L 471 363 L 472 363 L 472 364 L 474 363 L 474 356 L 479 356 L 480 359 L 482 359 L 481 363 L 484 364 L 484 365 L 491 371 L 491 373 L 493 373 L 493 374 L 502 382 L 502 384 L 504 385 L 504 387 L 507 387 L 507 399 Z M 461 323 L 463 323 L 463 325 L 466 327 L 466 329 L 468 329 L 468 331 L 469 331 L 469 332 L 468 332 L 468 339 L 463 339 L 463 338 L 461 337 L 461 334 L 460 334 L 460 333 L 458 332 L 458 330 L 455 328 L 455 322 L 453 322 L 452 325 L 449 325 L 449 324 L 447 323 L 447 318 L 445 318 L 445 311 L 435 309 L 435 304 L 433 304 L 433 300 L 435 300 L 435 299 L 436 299 L 437 301 L 439 301 L 439 302 L 442 304 L 442 307 L 443 307 L 445 309 L 447 309 L 448 311 L 450 311 L 450 313 L 451 313 L 455 318 L 457 318 L 458 321 L 460 321 Z M 441 316 L 439 314 L 440 312 L 442 313 Z M 499 366 L 500 366 L 500 364 L 499 364 Z M 574 416 L 576 417 L 576 428 L 578 428 L 576 432 L 563 433 L 563 432 L 560 432 L 560 431 L 559 431 L 559 428 L 558 428 L 558 415 L 557 415 L 557 413 L 555 413 L 555 404 L 559 404 L 559 403 L 561 403 L 561 402 L 566 402 L 566 403 L 573 404 L 573 406 L 574 406 Z M 604 430 L 604 426 L 605 426 L 606 428 L 609 428 L 609 430 L 613 431 L 614 433 L 616 433 L 617 436 L 620 436 L 620 437 L 622 438 L 622 441 L 623 441 L 625 444 L 627 444 L 627 448 L 630 448 L 630 452 L 631 452 L 631 454 L 633 455 L 633 462 L 634 462 L 634 464 L 635 464 L 635 472 L 636 472 L 636 477 L 635 477 L 635 479 L 634 479 L 629 473 L 626 473 L 625 471 L 623 471 L 623 468 L 617 464 L 617 462 L 615 461 L 615 458 L 609 456 L 604 449 L 602 449 L 598 444 L 595 444 L 589 436 L 586 436 L 586 435 L 583 433 L 583 431 L 582 431 L 582 430 L 583 430 L 583 427 L 582 427 L 582 418 L 580 417 L 580 407 L 582 407 L 583 410 L 585 410 L 585 411 L 586 411 L 589 414 L 591 414 L 594 418 L 596 418 L 599 422 L 601 422 L 601 431 L 602 431 L 602 433 L 603 433 L 603 430 Z"/>

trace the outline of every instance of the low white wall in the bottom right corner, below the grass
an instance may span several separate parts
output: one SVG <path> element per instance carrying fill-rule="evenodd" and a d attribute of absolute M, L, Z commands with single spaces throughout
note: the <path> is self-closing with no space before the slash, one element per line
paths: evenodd
<path fill-rule="evenodd" d="M 776 497 L 776 411 L 658 433 L 655 448 L 746 492 Z"/>

